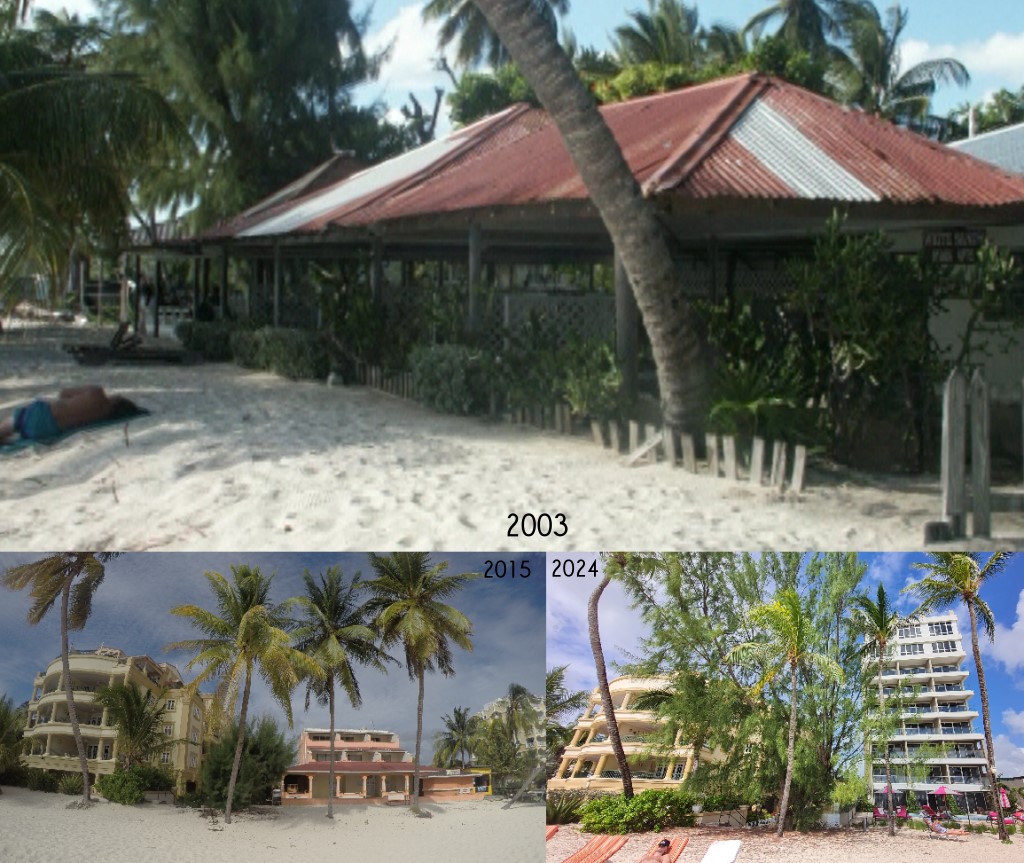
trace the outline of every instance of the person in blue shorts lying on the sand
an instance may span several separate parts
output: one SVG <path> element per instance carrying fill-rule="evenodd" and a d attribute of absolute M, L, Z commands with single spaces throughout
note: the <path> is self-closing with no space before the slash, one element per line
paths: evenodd
<path fill-rule="evenodd" d="M 138 413 L 135 402 L 122 395 L 108 395 L 102 387 L 70 387 L 60 390 L 54 399 L 37 398 L 15 407 L 10 419 L 0 421 L 0 443 L 15 435 L 23 440 L 45 440 L 90 423 L 134 417 Z"/>

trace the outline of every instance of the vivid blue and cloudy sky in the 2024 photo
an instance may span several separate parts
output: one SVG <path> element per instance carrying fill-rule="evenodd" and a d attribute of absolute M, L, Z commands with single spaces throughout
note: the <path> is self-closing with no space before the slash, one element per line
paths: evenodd
<path fill-rule="evenodd" d="M 573 554 L 572 558 L 590 561 L 595 554 Z M 928 560 L 924 554 L 862 554 L 868 569 L 863 586 L 873 592 L 879 581 L 892 595 L 898 595 L 907 584 L 921 577 L 914 562 Z M 572 689 L 590 690 L 596 686 L 594 659 L 587 635 L 587 600 L 596 579 L 551 577 L 552 557 L 548 559 L 548 667 L 568 664 L 566 683 Z M 989 709 L 992 717 L 992 737 L 995 766 L 1005 776 L 1024 775 L 1024 554 L 1011 559 L 1010 565 L 993 578 L 982 592 L 995 615 L 994 642 L 981 637 L 982 663 L 988 686 Z M 914 603 L 907 596 L 899 598 L 900 608 L 911 611 Z M 967 613 L 956 609 L 961 631 L 970 633 Z M 608 663 L 609 677 L 615 663 L 628 661 L 630 655 L 640 655 L 640 638 L 645 624 L 629 607 L 622 588 L 612 582 L 605 590 L 600 605 L 601 642 Z M 965 637 L 970 672 L 968 683 L 975 691 L 972 704 L 981 710 L 977 692 L 977 670 L 971 658 L 970 636 Z M 982 730 L 981 718 L 976 721 Z"/>

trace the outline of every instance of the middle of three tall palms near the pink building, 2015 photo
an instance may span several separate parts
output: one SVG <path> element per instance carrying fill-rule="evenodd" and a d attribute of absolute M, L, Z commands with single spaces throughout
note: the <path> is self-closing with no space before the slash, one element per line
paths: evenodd
<path fill-rule="evenodd" d="M 332 566 L 318 579 L 304 572 L 302 582 L 305 595 L 297 600 L 302 617 L 296 621 L 293 639 L 295 648 L 319 668 L 318 677 L 306 681 L 306 709 L 310 698 L 315 697 L 331 716 L 331 793 L 327 799 L 327 817 L 334 818 L 335 690 L 340 686 L 348 702 L 358 707 L 362 696 L 355 665 L 384 671 L 384 660 L 390 657 L 377 646 L 377 633 L 368 622 L 369 612 L 358 602 L 361 593 L 358 575 L 346 584 L 341 569 Z"/>

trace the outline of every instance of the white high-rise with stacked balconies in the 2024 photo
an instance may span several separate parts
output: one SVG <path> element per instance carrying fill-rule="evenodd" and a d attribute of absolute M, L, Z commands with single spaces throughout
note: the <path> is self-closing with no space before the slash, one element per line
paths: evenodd
<path fill-rule="evenodd" d="M 898 804 L 914 795 L 919 804 L 944 804 L 934 791 L 945 786 L 972 812 L 987 812 L 984 735 L 971 706 L 967 653 L 952 612 L 920 617 L 899 630 L 881 662 L 887 709 L 898 728 L 889 738 L 893 792 Z M 878 678 L 872 679 L 878 686 Z M 976 728 L 976 723 L 979 727 Z M 886 801 L 881 750 L 865 749 L 874 802 Z M 930 796 L 931 795 L 931 796 Z"/>

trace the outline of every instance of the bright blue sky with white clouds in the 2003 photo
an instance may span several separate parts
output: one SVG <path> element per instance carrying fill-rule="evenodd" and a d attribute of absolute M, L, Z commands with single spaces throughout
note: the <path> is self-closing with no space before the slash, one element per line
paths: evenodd
<path fill-rule="evenodd" d="M 92 0 L 36 0 L 34 5 L 53 10 L 67 8 L 79 14 L 89 14 L 95 8 Z M 373 50 L 393 46 L 391 61 L 384 66 L 377 82 L 362 89 L 360 99 L 379 99 L 397 110 L 413 92 L 429 109 L 435 86 L 450 89 L 451 82 L 434 70 L 438 56 L 436 28 L 423 23 L 420 12 L 424 5 L 409 0 L 376 0 L 372 4 L 353 0 L 354 10 L 370 10 L 367 46 Z M 741 27 L 771 3 L 714 0 L 695 5 L 701 24 Z M 891 4 L 877 0 L 876 5 L 885 9 Z M 952 56 L 971 73 L 970 87 L 939 91 L 934 102 L 937 113 L 945 114 L 964 101 L 981 100 L 1000 87 L 1016 91 L 1024 85 L 1024 16 L 1019 13 L 1017 0 L 976 0 L 970 4 L 962 0 L 903 0 L 900 5 L 909 12 L 901 42 L 905 67 L 926 58 Z M 581 45 L 605 49 L 609 47 L 609 34 L 628 21 L 628 12 L 646 7 L 647 0 L 570 0 L 565 25 Z M 451 50 L 449 56 L 453 56 Z M 442 118 L 439 130 L 447 128 Z"/>

